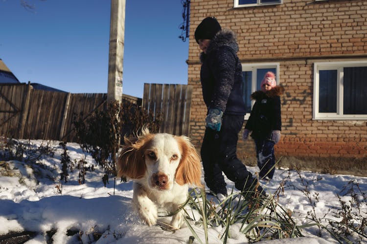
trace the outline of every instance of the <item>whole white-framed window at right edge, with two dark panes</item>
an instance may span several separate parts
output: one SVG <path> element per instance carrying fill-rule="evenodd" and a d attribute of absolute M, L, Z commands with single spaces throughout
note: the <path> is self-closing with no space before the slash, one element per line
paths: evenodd
<path fill-rule="evenodd" d="M 367 61 L 314 63 L 314 119 L 367 119 Z"/>

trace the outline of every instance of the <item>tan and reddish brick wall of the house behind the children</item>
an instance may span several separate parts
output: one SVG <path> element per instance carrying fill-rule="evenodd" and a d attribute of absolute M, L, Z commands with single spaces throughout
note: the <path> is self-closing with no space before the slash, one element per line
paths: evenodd
<path fill-rule="evenodd" d="M 277 156 L 367 158 L 366 120 L 312 120 L 313 63 L 367 60 L 367 1 L 283 0 L 279 5 L 233 8 L 233 0 L 191 0 L 188 84 L 194 91 L 189 136 L 198 148 L 206 106 L 194 31 L 207 16 L 236 32 L 242 63 L 280 63 L 279 81 L 286 92 Z M 238 154 L 253 156 L 253 142 L 240 141 Z"/>

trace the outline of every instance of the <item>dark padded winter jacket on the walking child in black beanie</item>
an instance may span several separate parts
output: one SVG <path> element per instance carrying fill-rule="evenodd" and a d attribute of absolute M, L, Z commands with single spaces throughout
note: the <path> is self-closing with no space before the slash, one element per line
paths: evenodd
<path fill-rule="evenodd" d="M 224 114 L 245 115 L 242 99 L 242 66 L 238 44 L 230 30 L 222 30 L 200 55 L 200 80 L 206 107 L 219 108 Z"/>

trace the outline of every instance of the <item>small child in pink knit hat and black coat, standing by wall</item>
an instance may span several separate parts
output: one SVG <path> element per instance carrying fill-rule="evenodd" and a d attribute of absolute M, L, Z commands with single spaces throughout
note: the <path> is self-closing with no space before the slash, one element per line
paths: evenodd
<path fill-rule="evenodd" d="M 283 92 L 284 88 L 276 85 L 275 74 L 267 72 L 261 81 L 261 91 L 251 94 L 251 99 L 255 100 L 255 104 L 246 123 L 242 139 L 246 141 L 252 131 L 251 137 L 255 141 L 260 179 L 270 180 L 274 176 L 274 145 L 280 140 L 280 96 Z"/>

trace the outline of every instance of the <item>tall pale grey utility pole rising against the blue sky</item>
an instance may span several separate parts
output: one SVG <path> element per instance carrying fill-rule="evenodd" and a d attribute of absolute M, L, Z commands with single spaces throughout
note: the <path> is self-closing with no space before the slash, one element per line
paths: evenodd
<path fill-rule="evenodd" d="M 122 100 L 126 0 L 111 0 L 107 101 Z"/>

